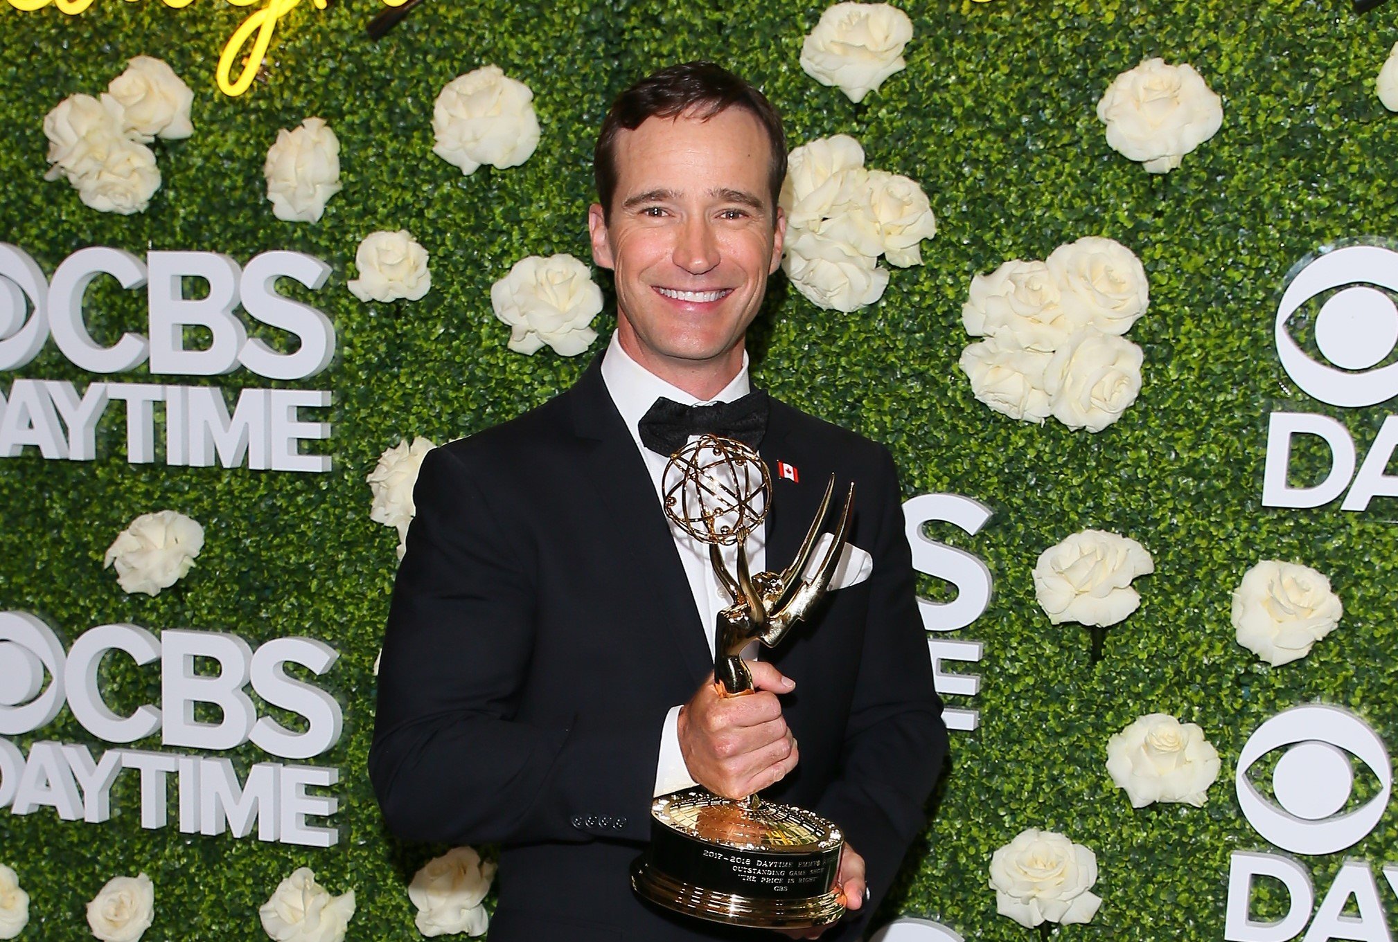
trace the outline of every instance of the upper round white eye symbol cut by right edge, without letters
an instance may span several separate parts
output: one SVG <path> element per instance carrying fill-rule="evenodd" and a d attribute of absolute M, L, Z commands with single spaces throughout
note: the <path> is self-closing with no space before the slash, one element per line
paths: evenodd
<path fill-rule="evenodd" d="M 1316 345 L 1334 366 L 1307 356 L 1286 330 L 1303 303 L 1331 288 L 1341 291 L 1316 314 Z M 1323 254 L 1286 285 L 1276 309 L 1276 354 L 1286 375 L 1311 397 L 1360 408 L 1398 396 L 1398 363 L 1370 369 L 1398 345 L 1398 306 L 1378 288 L 1398 292 L 1398 252 L 1381 246 Z"/>

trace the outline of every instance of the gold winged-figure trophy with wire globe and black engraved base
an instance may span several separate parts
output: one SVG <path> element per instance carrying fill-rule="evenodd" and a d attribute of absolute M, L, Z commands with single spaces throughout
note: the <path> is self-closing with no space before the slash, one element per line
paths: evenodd
<path fill-rule="evenodd" d="M 835 541 L 815 574 L 804 573 L 833 492 L 830 475 L 791 565 L 780 573 L 752 574 L 744 542 L 766 520 L 772 496 L 762 458 L 741 442 L 705 435 L 675 451 L 665 465 L 665 513 L 709 545 L 714 574 L 734 600 L 719 612 L 714 629 L 713 671 L 720 695 L 751 693 L 752 675 L 742 650 L 754 640 L 776 646 L 829 588 L 849 535 L 853 484 Z M 737 572 L 731 574 L 720 551 L 724 545 L 737 545 Z M 801 808 L 689 788 L 663 795 L 650 806 L 650 847 L 632 864 L 630 885 L 658 906 L 728 925 L 829 925 L 844 913 L 836 887 L 843 846 L 835 825 Z"/>

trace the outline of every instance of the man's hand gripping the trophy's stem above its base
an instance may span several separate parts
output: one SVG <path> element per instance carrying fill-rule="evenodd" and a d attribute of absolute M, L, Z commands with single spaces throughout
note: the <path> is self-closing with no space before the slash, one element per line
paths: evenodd
<path fill-rule="evenodd" d="M 795 681 L 765 661 L 749 661 L 752 693 L 726 696 L 713 675 L 679 709 L 679 752 L 689 777 L 716 795 L 747 798 L 795 769 L 795 737 L 781 717 L 777 693 Z"/>

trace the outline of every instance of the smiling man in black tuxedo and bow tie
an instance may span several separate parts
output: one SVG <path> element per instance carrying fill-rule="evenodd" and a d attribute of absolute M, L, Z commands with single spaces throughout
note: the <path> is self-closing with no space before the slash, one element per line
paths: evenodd
<path fill-rule="evenodd" d="M 569 391 L 422 463 L 369 767 L 403 837 L 502 846 L 492 942 L 777 938 L 632 893 L 651 798 L 693 783 L 765 790 L 844 830 L 850 913 L 825 939 L 863 932 L 924 823 L 946 732 L 892 458 L 744 398 L 784 173 L 780 117 L 731 73 L 691 63 L 622 92 L 589 212 L 594 259 L 615 274 L 610 348 Z M 867 577 L 843 566 L 850 584 L 752 664 L 749 696 L 713 683 L 714 616 L 731 600 L 664 516 L 668 450 L 642 430 L 657 396 L 742 400 L 763 460 L 791 468 L 773 475 L 756 566 L 794 558 L 832 472 L 857 485 L 850 553 L 868 555 Z"/>

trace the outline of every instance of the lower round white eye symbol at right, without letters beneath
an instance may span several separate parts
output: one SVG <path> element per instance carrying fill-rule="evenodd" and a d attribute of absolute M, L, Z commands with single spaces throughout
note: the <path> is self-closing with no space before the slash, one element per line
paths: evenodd
<path fill-rule="evenodd" d="M 1283 746 L 1286 752 L 1272 771 L 1274 805 L 1247 770 Z M 1350 755 L 1369 766 L 1380 788 L 1363 805 L 1341 815 L 1355 790 Z M 1283 850 L 1316 855 L 1342 851 L 1367 837 L 1383 818 L 1392 781 L 1388 749 L 1363 720 L 1332 706 L 1299 706 L 1276 714 L 1248 737 L 1233 784 L 1243 816 L 1258 834 Z"/>

